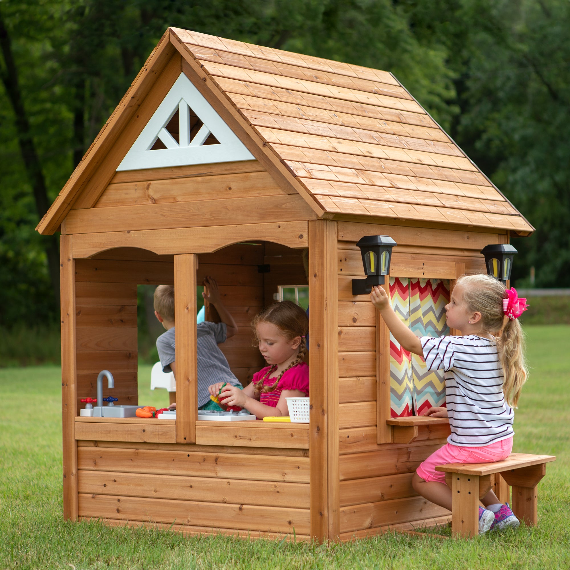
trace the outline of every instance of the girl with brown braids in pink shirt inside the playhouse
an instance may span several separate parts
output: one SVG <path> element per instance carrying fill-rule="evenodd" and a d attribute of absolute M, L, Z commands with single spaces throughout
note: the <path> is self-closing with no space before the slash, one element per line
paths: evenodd
<path fill-rule="evenodd" d="M 307 353 L 307 315 L 295 303 L 282 301 L 255 316 L 251 326 L 255 345 L 268 366 L 256 372 L 243 390 L 226 384 L 219 399 L 223 404 L 245 408 L 260 420 L 288 416 L 285 398 L 309 395 L 309 367 L 303 362 Z M 210 394 L 217 394 L 221 386 L 221 382 L 211 385 Z"/>

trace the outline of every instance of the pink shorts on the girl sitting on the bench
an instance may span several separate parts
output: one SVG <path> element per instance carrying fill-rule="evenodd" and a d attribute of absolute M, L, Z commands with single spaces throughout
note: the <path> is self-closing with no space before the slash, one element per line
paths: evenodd
<path fill-rule="evenodd" d="M 446 443 L 422 462 L 416 473 L 424 481 L 445 483 L 445 471 L 435 471 L 437 465 L 445 465 L 446 463 L 494 463 L 506 459 L 511 451 L 512 437 L 484 447 L 460 447 Z"/>

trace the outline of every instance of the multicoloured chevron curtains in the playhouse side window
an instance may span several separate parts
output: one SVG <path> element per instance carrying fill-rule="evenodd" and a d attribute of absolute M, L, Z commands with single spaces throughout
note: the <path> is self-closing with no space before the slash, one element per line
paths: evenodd
<path fill-rule="evenodd" d="M 390 301 L 416 335 L 449 335 L 445 321 L 449 280 L 390 278 Z M 443 370 L 428 372 L 424 359 L 404 351 L 390 335 L 391 416 L 421 416 L 431 406 L 445 406 Z"/>

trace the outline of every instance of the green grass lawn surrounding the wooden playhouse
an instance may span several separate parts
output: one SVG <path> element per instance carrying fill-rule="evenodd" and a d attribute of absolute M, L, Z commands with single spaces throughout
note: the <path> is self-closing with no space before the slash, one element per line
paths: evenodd
<path fill-rule="evenodd" d="M 539 485 L 539 526 L 471 541 L 384 535 L 328 547 L 65 523 L 60 372 L 0 369 L 0 568 L 570 568 L 570 326 L 527 326 L 531 378 L 515 420 L 515 451 L 557 456 Z M 140 368 L 140 401 L 150 392 Z"/>

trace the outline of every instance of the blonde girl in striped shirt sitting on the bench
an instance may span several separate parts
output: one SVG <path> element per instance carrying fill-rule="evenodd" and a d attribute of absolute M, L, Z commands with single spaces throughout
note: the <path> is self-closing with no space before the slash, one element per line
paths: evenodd
<path fill-rule="evenodd" d="M 418 338 L 390 307 L 383 288 L 374 287 L 372 303 L 394 338 L 407 351 L 424 357 L 429 370 L 445 370 L 446 408 L 427 416 L 449 417 L 447 445 L 431 454 L 412 479 L 414 489 L 432 503 L 451 510 L 445 463 L 492 463 L 512 450 L 514 410 L 527 379 L 524 339 L 516 320 L 526 299 L 488 275 L 463 275 L 446 305 L 447 324 L 462 336 Z M 479 506 L 479 532 L 519 526 L 510 506 L 489 491 Z"/>

